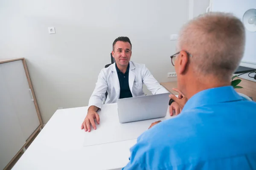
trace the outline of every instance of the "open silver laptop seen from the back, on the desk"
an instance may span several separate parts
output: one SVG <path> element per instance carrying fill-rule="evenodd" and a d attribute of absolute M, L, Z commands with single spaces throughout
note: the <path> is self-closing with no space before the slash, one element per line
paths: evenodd
<path fill-rule="evenodd" d="M 120 123 L 155 119 L 166 116 L 169 93 L 117 100 Z"/>

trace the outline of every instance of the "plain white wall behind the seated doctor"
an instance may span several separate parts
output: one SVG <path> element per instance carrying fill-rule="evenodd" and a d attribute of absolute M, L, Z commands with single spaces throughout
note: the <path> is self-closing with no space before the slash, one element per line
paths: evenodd
<path fill-rule="evenodd" d="M 159 82 L 170 81 L 176 41 L 169 38 L 188 9 L 188 0 L 1 0 L 0 58 L 26 58 L 46 123 L 58 107 L 88 104 L 116 37 L 128 36 L 131 60 L 145 63 Z"/>

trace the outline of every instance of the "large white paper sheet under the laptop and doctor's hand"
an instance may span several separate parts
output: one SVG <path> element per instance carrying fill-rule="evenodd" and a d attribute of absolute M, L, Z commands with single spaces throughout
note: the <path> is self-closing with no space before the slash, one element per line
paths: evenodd
<path fill-rule="evenodd" d="M 104 109 L 108 109 L 108 111 L 104 111 Z M 148 129 L 151 123 L 170 118 L 168 109 L 166 117 L 163 118 L 119 123 L 116 105 L 111 107 L 108 106 L 108 108 L 102 108 L 102 110 L 104 113 L 99 113 L 100 125 L 97 125 L 96 130 L 93 130 L 91 127 L 91 132 L 85 133 L 84 146 L 137 139 L 145 130 Z"/>

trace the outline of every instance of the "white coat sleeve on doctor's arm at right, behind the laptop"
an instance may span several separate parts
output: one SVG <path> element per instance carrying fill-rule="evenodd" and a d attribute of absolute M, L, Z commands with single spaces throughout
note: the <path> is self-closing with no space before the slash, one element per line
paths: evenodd
<path fill-rule="evenodd" d="M 169 93 L 169 91 L 166 90 L 163 86 L 157 82 L 157 80 L 153 77 L 153 75 L 150 73 L 148 68 L 143 68 L 143 83 L 147 86 L 148 90 L 151 91 L 152 94 L 163 94 L 163 93 Z"/>

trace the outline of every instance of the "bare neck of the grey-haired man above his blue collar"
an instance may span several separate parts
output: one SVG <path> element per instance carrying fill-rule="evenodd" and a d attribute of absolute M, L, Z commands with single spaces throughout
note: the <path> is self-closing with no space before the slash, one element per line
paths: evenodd
<path fill-rule="evenodd" d="M 186 97 L 190 99 L 192 96 L 200 91 L 207 90 L 209 88 L 218 88 L 230 85 L 230 81 L 221 81 L 216 78 L 207 78 L 199 81 L 190 81 L 186 83 Z"/>

